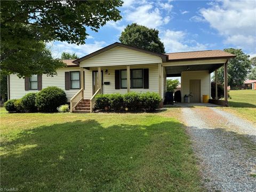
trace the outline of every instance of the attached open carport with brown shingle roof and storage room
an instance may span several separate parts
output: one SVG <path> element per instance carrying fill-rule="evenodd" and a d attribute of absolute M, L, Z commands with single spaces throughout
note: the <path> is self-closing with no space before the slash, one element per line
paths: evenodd
<path fill-rule="evenodd" d="M 209 102 L 228 106 L 227 65 L 228 60 L 236 57 L 221 50 L 167 53 L 168 60 L 163 63 L 166 77 L 181 77 L 181 99 L 190 95 L 191 102 L 202 102 L 203 95 L 211 98 L 211 73 L 215 71 L 215 98 Z M 217 69 L 223 66 L 224 100 L 218 100 Z"/>

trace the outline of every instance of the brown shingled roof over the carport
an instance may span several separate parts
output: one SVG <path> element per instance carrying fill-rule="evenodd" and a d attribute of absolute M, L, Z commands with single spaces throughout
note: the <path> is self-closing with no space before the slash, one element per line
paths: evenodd
<path fill-rule="evenodd" d="M 166 53 L 167 61 L 234 58 L 236 55 L 221 50 Z"/>

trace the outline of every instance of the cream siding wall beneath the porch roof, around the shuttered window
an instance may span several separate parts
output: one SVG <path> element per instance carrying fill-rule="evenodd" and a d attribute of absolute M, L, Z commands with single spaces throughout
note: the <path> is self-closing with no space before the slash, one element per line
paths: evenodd
<path fill-rule="evenodd" d="M 158 64 L 150 65 L 137 65 L 130 66 L 130 69 L 149 69 L 149 89 L 130 89 L 134 92 L 156 92 L 158 93 Z M 108 74 L 105 73 L 105 70 L 108 70 Z M 126 66 L 111 66 L 111 67 L 102 67 L 103 71 L 103 82 L 110 82 L 110 85 L 103 85 L 103 93 L 127 93 L 127 89 L 115 89 L 115 70 L 126 69 Z M 90 70 L 84 69 L 87 75 L 85 75 L 85 90 L 84 98 L 90 99 L 92 97 L 92 71 L 98 70 L 97 68 L 90 68 Z"/>

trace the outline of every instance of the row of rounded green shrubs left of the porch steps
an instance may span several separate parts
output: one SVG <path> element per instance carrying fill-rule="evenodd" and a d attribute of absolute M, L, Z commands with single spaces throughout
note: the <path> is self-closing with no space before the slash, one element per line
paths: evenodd
<path fill-rule="evenodd" d="M 10 99 L 4 103 L 4 107 L 9 112 L 17 113 L 54 112 L 66 103 L 66 93 L 56 86 L 49 86 L 38 93 L 27 93 L 21 99 Z"/>

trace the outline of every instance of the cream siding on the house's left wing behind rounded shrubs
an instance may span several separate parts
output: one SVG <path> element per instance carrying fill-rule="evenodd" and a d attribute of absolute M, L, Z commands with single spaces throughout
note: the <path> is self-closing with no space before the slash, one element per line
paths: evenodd
<path fill-rule="evenodd" d="M 67 67 L 57 70 L 57 75 L 53 77 L 42 75 L 42 89 L 48 86 L 57 86 L 64 90 L 70 100 L 79 90 L 65 90 L 65 72 L 79 71 L 79 67 Z M 30 92 L 38 92 L 37 90 L 25 91 L 25 79 L 19 78 L 17 75 L 10 75 L 10 99 L 19 99 Z"/>

